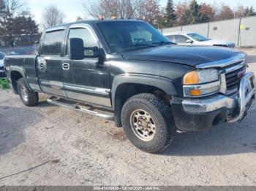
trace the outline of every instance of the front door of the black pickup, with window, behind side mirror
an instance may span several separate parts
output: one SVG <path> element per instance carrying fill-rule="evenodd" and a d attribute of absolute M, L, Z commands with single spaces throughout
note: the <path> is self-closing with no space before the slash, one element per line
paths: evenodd
<path fill-rule="evenodd" d="M 87 26 L 74 25 L 69 27 L 66 57 L 63 64 L 69 65 L 64 70 L 64 87 L 68 98 L 84 101 L 99 106 L 111 106 L 108 64 L 99 58 L 69 59 L 69 39 L 83 39 L 84 47 L 99 47 L 93 30 Z M 85 55 L 91 54 L 85 50 Z"/>

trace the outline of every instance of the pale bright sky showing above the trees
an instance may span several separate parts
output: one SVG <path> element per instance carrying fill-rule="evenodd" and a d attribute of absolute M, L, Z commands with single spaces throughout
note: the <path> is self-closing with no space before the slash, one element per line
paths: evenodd
<path fill-rule="evenodd" d="M 97 0 L 91 0 L 94 2 Z M 174 0 L 174 3 L 178 3 L 180 0 Z M 189 1 L 189 0 L 181 0 Z M 66 15 L 64 21 L 65 23 L 73 22 L 78 16 L 83 19 L 90 18 L 89 15 L 83 10 L 83 3 L 86 3 L 86 0 L 25 0 L 26 6 L 31 10 L 32 15 L 34 15 L 37 23 L 42 24 L 42 12 L 44 7 L 54 4 Z M 221 4 L 222 2 L 228 4 L 231 8 L 236 9 L 238 5 L 252 6 L 255 5 L 256 9 L 256 0 L 197 0 L 198 3 L 206 2 L 209 4 Z M 160 0 L 161 7 L 165 7 L 167 0 Z"/>

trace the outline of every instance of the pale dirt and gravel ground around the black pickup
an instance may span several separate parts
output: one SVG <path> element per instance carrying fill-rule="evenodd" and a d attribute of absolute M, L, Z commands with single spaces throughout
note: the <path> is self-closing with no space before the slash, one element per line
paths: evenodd
<path fill-rule="evenodd" d="M 256 49 L 244 51 L 256 71 Z M 113 122 L 46 98 L 29 108 L 0 90 L 0 185 L 256 185 L 256 104 L 240 124 L 179 133 L 151 155 Z"/>

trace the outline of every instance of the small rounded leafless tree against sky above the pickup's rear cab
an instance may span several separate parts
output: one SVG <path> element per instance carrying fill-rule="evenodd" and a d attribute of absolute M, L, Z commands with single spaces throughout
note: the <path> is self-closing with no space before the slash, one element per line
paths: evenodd
<path fill-rule="evenodd" d="M 64 22 L 65 15 L 56 5 L 50 5 L 45 7 L 45 11 L 42 15 L 43 26 L 48 28 L 50 26 L 58 26 Z"/>

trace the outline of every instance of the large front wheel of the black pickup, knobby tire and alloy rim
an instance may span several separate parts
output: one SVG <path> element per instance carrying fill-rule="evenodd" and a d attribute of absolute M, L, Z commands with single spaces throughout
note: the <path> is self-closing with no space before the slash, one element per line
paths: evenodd
<path fill-rule="evenodd" d="M 148 93 L 129 98 L 121 110 L 121 122 L 129 141 L 149 153 L 166 149 L 176 132 L 170 106 L 157 95 Z"/>

